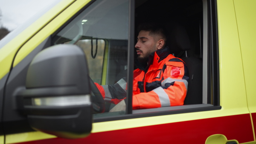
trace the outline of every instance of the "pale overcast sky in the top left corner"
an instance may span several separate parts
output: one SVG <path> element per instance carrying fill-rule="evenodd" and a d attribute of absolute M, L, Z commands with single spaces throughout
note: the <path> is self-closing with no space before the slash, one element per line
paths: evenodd
<path fill-rule="evenodd" d="M 0 0 L 0 26 L 12 31 L 55 1 L 59 0 Z"/>

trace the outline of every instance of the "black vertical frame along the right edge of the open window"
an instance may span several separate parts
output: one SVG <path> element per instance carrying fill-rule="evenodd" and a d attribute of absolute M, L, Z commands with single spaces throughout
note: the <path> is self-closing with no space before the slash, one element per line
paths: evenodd
<path fill-rule="evenodd" d="M 220 105 L 217 2 L 208 0 L 208 98 L 207 104 Z"/>

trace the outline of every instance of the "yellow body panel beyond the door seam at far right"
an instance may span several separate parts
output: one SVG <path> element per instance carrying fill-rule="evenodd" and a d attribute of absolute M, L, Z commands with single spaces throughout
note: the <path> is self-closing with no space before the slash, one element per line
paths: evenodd
<path fill-rule="evenodd" d="M 248 107 L 256 112 L 256 1 L 234 0 Z M 236 57 L 233 57 L 235 59 Z M 236 77 L 234 77 L 236 78 Z"/>

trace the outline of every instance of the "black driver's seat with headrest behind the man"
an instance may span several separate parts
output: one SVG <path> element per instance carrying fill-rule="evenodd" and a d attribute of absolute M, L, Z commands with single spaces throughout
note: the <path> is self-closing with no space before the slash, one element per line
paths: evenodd
<path fill-rule="evenodd" d="M 199 58 L 187 55 L 187 51 L 191 49 L 191 43 L 186 29 L 183 26 L 178 24 L 172 26 L 168 46 L 172 53 L 185 52 L 185 56 L 182 56 L 181 59 L 186 63 L 189 70 L 189 85 L 184 105 L 202 104 L 203 61 Z M 177 57 L 178 55 L 175 56 Z"/>

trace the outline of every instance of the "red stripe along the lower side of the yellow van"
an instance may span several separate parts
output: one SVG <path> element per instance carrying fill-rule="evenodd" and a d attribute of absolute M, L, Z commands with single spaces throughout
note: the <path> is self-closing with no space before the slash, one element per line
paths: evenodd
<path fill-rule="evenodd" d="M 204 144 L 214 134 L 239 143 L 254 141 L 250 114 L 97 132 L 76 140 L 52 138 L 20 144 Z"/>

